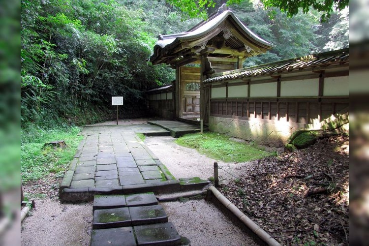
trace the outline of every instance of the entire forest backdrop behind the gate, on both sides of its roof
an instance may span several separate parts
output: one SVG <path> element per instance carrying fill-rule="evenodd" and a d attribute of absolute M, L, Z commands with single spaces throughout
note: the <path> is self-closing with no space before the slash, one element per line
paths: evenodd
<path fill-rule="evenodd" d="M 206 15 L 223 3 L 199 2 Z M 236 16 L 274 44 L 244 66 L 348 47 L 348 8 L 320 23 L 313 8 L 288 18 L 258 0 L 236 2 Z M 21 0 L 22 127 L 109 120 L 117 95 L 124 96 L 122 117 L 144 116 L 144 92 L 175 79 L 165 64 L 147 62 L 158 34 L 186 31 L 203 18 L 189 18 L 171 0 Z"/>

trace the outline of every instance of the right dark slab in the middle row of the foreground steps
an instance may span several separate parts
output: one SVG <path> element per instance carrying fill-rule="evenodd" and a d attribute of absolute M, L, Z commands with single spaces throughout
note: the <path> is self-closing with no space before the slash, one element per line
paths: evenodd
<path fill-rule="evenodd" d="M 132 225 L 168 222 L 168 215 L 161 205 L 130 207 Z"/>

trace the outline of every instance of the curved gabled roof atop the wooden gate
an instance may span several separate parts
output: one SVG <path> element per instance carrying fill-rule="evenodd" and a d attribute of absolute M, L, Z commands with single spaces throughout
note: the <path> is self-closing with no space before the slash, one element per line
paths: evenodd
<path fill-rule="evenodd" d="M 203 52 L 220 58 L 246 58 L 263 54 L 271 47 L 272 44 L 250 31 L 232 11 L 222 6 L 208 20 L 188 31 L 159 35 L 150 61 L 154 64 L 185 63 L 199 60 Z"/>

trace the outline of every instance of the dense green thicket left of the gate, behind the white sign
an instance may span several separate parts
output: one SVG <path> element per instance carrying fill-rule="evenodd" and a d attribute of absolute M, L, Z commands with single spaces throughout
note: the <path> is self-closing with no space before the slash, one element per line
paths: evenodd
<path fill-rule="evenodd" d="M 170 83 L 172 69 L 146 62 L 156 38 L 144 16 L 115 0 L 22 0 L 22 126 L 78 123 L 111 96 L 136 105 Z"/>

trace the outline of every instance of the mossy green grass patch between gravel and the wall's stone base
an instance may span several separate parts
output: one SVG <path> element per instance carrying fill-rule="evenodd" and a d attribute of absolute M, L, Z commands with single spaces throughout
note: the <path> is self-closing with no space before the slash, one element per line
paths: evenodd
<path fill-rule="evenodd" d="M 245 162 L 272 155 L 255 146 L 231 141 L 228 136 L 214 132 L 186 134 L 175 142 L 224 162 Z"/>

